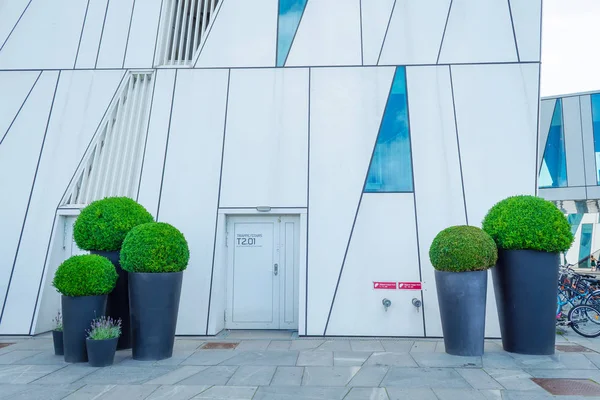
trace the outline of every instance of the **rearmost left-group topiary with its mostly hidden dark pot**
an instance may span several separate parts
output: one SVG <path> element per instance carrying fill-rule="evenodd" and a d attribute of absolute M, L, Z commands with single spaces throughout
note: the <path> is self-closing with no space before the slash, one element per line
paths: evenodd
<path fill-rule="evenodd" d="M 128 276 L 119 264 L 119 251 L 125 236 L 134 226 L 154 221 L 152 215 L 128 197 L 107 197 L 81 210 L 73 227 L 73 238 L 80 249 L 108 258 L 119 280 L 108 296 L 106 314 L 123 321 L 118 349 L 131 348 Z"/>

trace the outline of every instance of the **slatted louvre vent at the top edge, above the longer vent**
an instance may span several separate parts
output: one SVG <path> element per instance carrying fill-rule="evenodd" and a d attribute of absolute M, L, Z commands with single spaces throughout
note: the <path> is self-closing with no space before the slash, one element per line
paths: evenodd
<path fill-rule="evenodd" d="M 189 65 L 220 0 L 164 0 L 157 65 Z"/>

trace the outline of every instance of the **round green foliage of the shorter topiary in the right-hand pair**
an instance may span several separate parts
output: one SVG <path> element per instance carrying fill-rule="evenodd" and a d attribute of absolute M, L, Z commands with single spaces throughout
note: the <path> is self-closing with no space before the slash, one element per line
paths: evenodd
<path fill-rule="evenodd" d="M 498 260 L 496 244 L 474 226 L 451 226 L 433 239 L 429 259 L 439 271 L 480 271 L 493 267 Z"/>

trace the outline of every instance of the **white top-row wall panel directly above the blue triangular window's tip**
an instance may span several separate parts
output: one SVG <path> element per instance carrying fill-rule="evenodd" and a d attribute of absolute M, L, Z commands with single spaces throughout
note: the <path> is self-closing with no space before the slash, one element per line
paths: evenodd
<path fill-rule="evenodd" d="M 435 64 L 449 10 L 450 0 L 397 0 L 379 64 Z"/>

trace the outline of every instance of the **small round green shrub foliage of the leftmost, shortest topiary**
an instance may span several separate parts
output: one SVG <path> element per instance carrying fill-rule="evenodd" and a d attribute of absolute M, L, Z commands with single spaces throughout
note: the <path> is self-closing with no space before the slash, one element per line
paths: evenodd
<path fill-rule="evenodd" d="M 118 277 L 108 258 L 86 254 L 63 262 L 54 274 L 52 286 L 65 296 L 100 296 L 112 292 Z"/>

